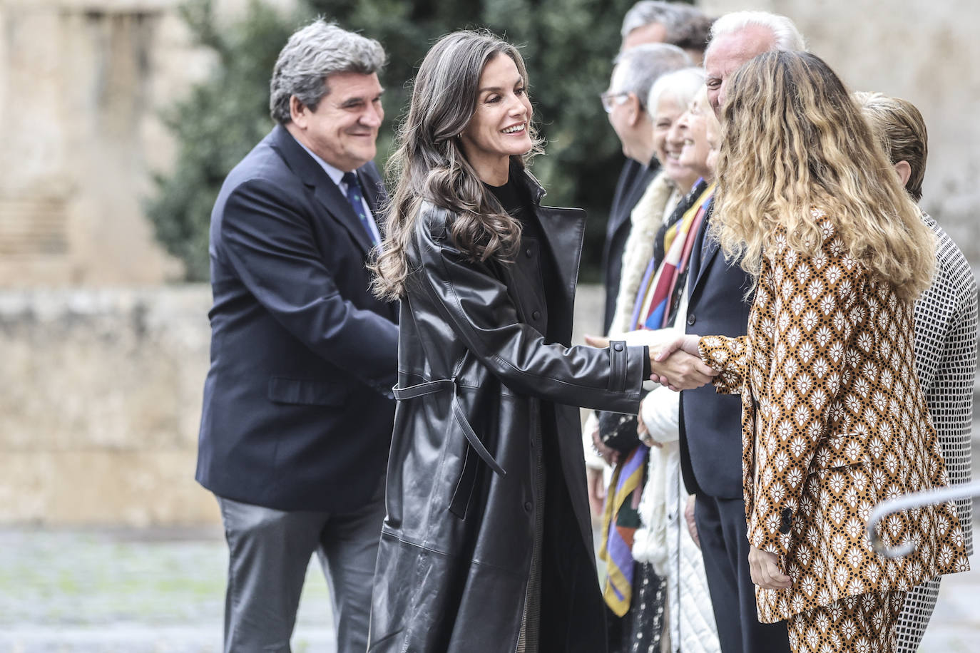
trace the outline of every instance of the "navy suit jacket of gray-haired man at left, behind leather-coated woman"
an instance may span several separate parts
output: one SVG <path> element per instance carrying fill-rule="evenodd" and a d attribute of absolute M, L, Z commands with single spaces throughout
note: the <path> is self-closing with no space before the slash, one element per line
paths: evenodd
<path fill-rule="evenodd" d="M 359 168 L 376 217 L 384 190 Z M 228 173 L 211 215 L 211 369 L 197 480 L 279 510 L 348 511 L 391 442 L 397 306 L 368 286 L 368 232 L 282 126 Z"/>

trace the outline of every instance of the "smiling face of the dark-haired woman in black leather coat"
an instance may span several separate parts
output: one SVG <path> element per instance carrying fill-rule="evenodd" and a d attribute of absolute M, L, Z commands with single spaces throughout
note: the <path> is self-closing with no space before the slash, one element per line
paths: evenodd
<path fill-rule="evenodd" d="M 531 114 L 531 101 L 514 60 L 495 56 L 480 73 L 476 111 L 460 135 L 466 161 L 480 179 L 499 185 L 503 169 L 507 181 L 510 158 L 532 147 Z"/>

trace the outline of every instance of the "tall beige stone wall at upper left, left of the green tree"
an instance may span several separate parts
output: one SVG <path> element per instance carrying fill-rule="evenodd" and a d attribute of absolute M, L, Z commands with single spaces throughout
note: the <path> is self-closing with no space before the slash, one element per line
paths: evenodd
<path fill-rule="evenodd" d="M 0 287 L 179 276 L 142 203 L 172 161 L 161 112 L 212 61 L 180 1 L 0 0 Z"/>

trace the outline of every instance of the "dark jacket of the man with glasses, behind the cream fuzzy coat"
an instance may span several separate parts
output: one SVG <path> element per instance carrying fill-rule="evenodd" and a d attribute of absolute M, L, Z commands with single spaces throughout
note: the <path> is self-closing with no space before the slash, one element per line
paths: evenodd
<path fill-rule="evenodd" d="M 661 166 L 655 159 L 650 165 L 627 159 L 616 181 L 610 219 L 606 223 L 606 242 L 603 245 L 603 284 L 606 288 L 606 308 L 603 311 L 603 333 L 610 332 L 619 297 L 619 277 L 622 276 L 622 253 L 633 222 L 630 213 L 643 197 Z"/>

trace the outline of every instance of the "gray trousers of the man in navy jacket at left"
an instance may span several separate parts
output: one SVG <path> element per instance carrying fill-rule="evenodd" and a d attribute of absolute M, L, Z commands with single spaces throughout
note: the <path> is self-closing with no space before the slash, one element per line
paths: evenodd
<path fill-rule="evenodd" d="M 384 483 L 349 513 L 282 511 L 218 497 L 228 543 L 226 653 L 288 653 L 314 551 L 333 600 L 338 653 L 368 649 L 371 581 L 384 520 Z"/>

